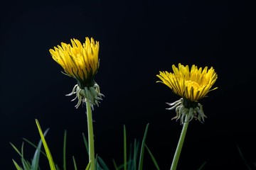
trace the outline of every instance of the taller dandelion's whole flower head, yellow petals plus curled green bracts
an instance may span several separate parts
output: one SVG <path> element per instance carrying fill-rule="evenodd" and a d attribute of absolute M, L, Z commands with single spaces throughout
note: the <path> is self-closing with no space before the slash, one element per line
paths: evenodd
<path fill-rule="evenodd" d="M 72 101 L 78 98 L 76 108 L 81 103 L 89 101 L 93 109 L 94 105 L 99 105 L 99 101 L 104 96 L 100 93 L 100 86 L 95 82 L 95 74 L 100 66 L 99 47 L 98 41 L 86 37 L 84 43 L 73 38 L 71 45 L 61 42 L 60 45 L 49 50 L 53 60 L 63 67 L 63 74 L 78 81 L 73 91 L 67 94 L 67 96 L 76 95 Z"/>

